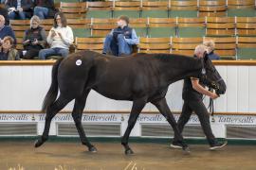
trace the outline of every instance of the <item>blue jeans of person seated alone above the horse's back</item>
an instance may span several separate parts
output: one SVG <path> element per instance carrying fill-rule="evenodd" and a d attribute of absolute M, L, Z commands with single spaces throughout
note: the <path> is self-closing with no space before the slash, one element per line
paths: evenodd
<path fill-rule="evenodd" d="M 112 53 L 115 56 L 130 55 L 132 53 L 131 46 L 125 42 L 123 34 L 118 35 L 118 42 L 114 41 L 113 35 L 106 36 L 102 53 Z"/>

